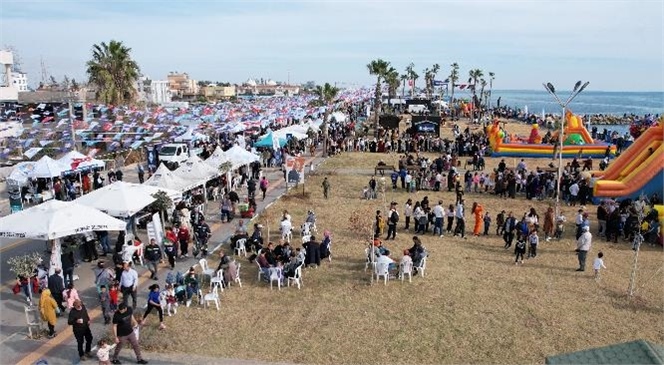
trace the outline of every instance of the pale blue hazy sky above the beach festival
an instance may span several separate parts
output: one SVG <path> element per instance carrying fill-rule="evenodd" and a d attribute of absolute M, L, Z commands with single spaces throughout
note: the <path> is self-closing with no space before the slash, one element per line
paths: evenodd
<path fill-rule="evenodd" d="M 664 91 L 664 1 L 3 0 L 0 47 L 15 47 L 31 85 L 86 80 L 91 47 L 119 40 L 144 75 L 371 85 L 366 65 L 403 72 L 450 64 L 495 73 L 493 87 Z M 418 83 L 423 83 L 420 77 Z M 569 85 L 569 86 L 568 86 Z"/>

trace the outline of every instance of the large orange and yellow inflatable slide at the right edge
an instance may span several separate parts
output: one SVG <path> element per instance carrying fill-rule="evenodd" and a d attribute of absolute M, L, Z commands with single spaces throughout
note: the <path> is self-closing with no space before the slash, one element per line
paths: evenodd
<path fill-rule="evenodd" d="M 605 171 L 595 172 L 594 196 L 638 198 L 664 188 L 664 121 L 648 128 Z M 599 176 L 599 174 L 602 174 Z"/>

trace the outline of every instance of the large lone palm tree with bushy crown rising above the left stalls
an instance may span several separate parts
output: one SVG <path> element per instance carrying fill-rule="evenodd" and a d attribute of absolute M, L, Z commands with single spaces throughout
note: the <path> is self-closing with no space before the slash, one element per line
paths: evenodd
<path fill-rule="evenodd" d="M 131 56 L 131 48 L 111 40 L 92 46 L 92 59 L 87 62 L 90 83 L 97 88 L 97 99 L 106 104 L 130 102 L 136 95 L 134 83 L 140 68 Z"/>

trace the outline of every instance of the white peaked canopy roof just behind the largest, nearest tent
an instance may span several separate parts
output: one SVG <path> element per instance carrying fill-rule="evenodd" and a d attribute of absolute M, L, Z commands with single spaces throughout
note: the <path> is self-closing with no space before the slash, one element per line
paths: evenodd
<path fill-rule="evenodd" d="M 114 217 L 126 218 L 152 204 L 155 201 L 152 195 L 159 191 L 164 191 L 173 201 L 182 199 L 182 193 L 176 190 L 116 181 L 81 196 L 75 202 L 99 209 Z"/>

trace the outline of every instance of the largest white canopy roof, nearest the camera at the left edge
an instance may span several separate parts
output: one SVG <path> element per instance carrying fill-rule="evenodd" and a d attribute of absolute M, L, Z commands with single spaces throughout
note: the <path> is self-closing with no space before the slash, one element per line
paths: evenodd
<path fill-rule="evenodd" d="M 0 237 L 55 239 L 91 231 L 124 231 L 127 223 L 97 209 L 50 200 L 0 218 Z"/>

